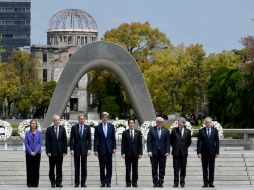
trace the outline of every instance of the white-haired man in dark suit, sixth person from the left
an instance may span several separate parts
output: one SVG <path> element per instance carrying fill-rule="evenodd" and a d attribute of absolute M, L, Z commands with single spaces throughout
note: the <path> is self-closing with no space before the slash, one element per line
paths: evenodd
<path fill-rule="evenodd" d="M 163 124 L 164 119 L 157 117 L 156 126 L 150 128 L 147 136 L 148 156 L 152 164 L 153 187 L 163 187 L 166 159 L 170 156 L 169 130 L 164 128 Z"/>

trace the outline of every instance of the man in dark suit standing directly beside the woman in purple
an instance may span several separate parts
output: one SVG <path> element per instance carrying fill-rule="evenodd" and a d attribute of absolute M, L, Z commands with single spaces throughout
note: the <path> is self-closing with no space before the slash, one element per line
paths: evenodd
<path fill-rule="evenodd" d="M 49 179 L 51 187 L 63 187 L 62 166 L 63 156 L 67 154 L 67 137 L 65 128 L 60 125 L 60 117 L 58 115 L 54 115 L 53 123 L 53 126 L 47 128 L 45 143 L 46 154 L 49 157 Z"/>

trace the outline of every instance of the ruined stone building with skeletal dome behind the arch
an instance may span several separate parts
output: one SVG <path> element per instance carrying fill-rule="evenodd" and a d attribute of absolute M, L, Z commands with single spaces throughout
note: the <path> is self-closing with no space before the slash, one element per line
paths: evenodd
<path fill-rule="evenodd" d="M 53 15 L 47 32 L 47 45 L 32 45 L 31 55 L 41 65 L 43 82 L 58 81 L 65 64 L 81 46 L 97 40 L 96 22 L 88 13 L 66 9 Z M 87 75 L 83 76 L 72 94 L 66 112 L 87 113 L 91 98 L 87 93 Z M 76 119 L 76 118 L 75 118 Z"/>

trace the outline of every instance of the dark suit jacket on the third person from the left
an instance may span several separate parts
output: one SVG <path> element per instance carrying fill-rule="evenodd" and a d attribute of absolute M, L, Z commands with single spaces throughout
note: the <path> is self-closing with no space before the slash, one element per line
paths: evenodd
<path fill-rule="evenodd" d="M 74 154 L 77 156 L 86 156 L 87 151 L 91 150 L 91 129 L 90 126 L 84 125 L 83 127 L 83 136 L 80 138 L 79 134 L 79 124 L 74 125 L 71 128 L 71 137 L 70 137 L 70 150 L 74 150 Z"/>

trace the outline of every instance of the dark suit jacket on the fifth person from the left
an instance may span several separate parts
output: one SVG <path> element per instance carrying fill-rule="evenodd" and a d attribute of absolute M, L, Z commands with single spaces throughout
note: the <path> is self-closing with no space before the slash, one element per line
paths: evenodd
<path fill-rule="evenodd" d="M 134 129 L 134 140 L 131 139 L 130 129 L 123 132 L 121 154 L 126 156 L 134 155 L 135 157 L 143 154 L 141 131 Z"/>

